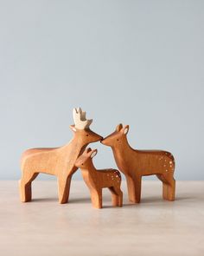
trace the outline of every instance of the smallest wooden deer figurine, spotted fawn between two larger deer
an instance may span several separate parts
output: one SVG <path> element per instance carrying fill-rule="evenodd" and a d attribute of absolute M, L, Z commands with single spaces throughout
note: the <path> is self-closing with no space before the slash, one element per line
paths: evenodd
<path fill-rule="evenodd" d="M 108 187 L 112 193 L 112 206 L 122 207 L 121 175 L 114 169 L 97 170 L 92 163 L 92 157 L 96 154 L 97 149 L 87 148 L 75 163 L 76 167 L 80 167 L 83 179 L 89 187 L 92 206 L 102 208 L 102 188 Z"/>

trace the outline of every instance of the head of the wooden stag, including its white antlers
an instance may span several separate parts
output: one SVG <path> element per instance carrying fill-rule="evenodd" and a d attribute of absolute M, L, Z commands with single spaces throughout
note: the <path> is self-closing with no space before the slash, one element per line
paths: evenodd
<path fill-rule="evenodd" d="M 89 127 L 92 123 L 92 119 L 86 119 L 86 112 L 81 108 L 73 108 L 73 121 L 74 125 L 70 125 L 74 135 L 77 135 L 84 144 L 101 141 L 102 136 L 94 133 Z"/>

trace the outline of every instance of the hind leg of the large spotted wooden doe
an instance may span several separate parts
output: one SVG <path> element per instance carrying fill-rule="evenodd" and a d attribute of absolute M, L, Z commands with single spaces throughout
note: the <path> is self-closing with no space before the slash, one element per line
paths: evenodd
<path fill-rule="evenodd" d="M 175 179 L 169 174 L 156 175 L 160 181 L 163 181 L 163 199 L 175 200 Z"/>

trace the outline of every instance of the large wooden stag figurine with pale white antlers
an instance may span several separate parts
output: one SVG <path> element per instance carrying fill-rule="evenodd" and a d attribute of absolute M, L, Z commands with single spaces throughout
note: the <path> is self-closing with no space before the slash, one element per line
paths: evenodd
<path fill-rule="evenodd" d="M 77 170 L 75 161 L 86 146 L 102 137 L 89 128 L 92 120 L 86 120 L 86 112 L 73 108 L 73 139 L 60 148 L 32 148 L 22 154 L 22 179 L 19 181 L 22 202 L 32 199 L 31 182 L 39 173 L 52 174 L 58 178 L 58 194 L 61 204 L 67 203 L 70 182 Z"/>

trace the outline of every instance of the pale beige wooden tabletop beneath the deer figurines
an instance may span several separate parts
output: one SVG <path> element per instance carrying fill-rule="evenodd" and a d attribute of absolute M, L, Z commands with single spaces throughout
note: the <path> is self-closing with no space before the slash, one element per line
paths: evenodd
<path fill-rule="evenodd" d="M 162 200 L 162 183 L 143 181 L 142 202 L 92 208 L 83 181 L 73 181 L 70 202 L 60 205 L 56 181 L 34 181 L 21 203 L 17 181 L 0 181 L 0 254 L 204 255 L 204 181 L 177 181 L 175 202 Z"/>

